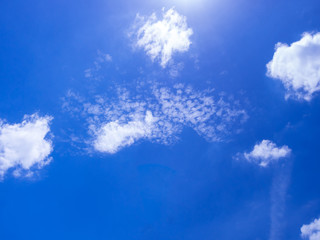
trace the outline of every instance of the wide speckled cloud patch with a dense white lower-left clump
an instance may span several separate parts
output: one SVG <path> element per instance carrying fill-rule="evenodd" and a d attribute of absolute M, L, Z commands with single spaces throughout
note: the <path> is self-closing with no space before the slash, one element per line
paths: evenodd
<path fill-rule="evenodd" d="M 172 144 L 184 127 L 208 141 L 223 141 L 247 114 L 236 103 L 212 93 L 183 84 L 153 87 L 133 96 L 120 89 L 114 99 L 97 97 L 95 103 L 82 103 L 82 115 L 88 118 L 93 147 L 100 152 L 115 153 L 143 139 Z"/>

